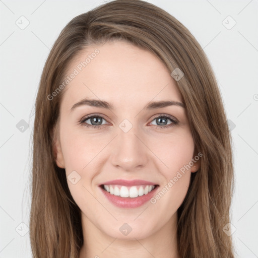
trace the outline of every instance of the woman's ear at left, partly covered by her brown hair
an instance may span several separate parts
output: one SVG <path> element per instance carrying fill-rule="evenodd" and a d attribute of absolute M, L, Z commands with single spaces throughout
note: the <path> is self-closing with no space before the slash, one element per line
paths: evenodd
<path fill-rule="evenodd" d="M 53 136 L 52 147 L 53 147 L 53 154 L 54 154 L 54 159 L 55 159 L 56 165 L 59 168 L 66 168 L 64 165 L 64 158 L 63 158 L 62 149 L 61 149 L 61 145 L 60 145 L 59 119 L 53 128 L 52 136 Z"/>

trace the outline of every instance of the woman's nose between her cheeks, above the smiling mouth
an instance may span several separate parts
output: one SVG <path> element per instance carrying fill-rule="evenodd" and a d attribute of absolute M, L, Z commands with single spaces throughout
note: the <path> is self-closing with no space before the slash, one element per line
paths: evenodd
<path fill-rule="evenodd" d="M 118 128 L 111 150 L 111 163 L 123 171 L 136 171 L 148 162 L 148 148 L 136 126 L 125 133 Z"/>

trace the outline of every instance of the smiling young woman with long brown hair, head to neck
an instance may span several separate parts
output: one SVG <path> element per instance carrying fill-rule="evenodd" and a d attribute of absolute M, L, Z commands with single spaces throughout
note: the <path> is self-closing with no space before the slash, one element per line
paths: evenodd
<path fill-rule="evenodd" d="M 139 0 L 75 17 L 35 108 L 33 257 L 233 257 L 226 116 L 174 17 Z"/>

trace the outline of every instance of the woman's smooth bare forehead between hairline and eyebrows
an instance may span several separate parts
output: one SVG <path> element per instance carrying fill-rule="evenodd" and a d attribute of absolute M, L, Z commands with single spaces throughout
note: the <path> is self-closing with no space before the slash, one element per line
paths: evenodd
<path fill-rule="evenodd" d="M 85 97 L 116 105 L 147 102 L 182 102 L 175 81 L 162 61 L 150 51 L 124 41 L 87 47 L 70 63 L 67 76 L 76 74 L 66 86 L 62 105 L 71 108 Z"/>

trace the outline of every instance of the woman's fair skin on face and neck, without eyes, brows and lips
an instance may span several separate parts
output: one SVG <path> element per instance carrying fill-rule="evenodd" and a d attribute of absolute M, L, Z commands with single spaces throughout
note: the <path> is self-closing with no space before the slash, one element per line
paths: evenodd
<path fill-rule="evenodd" d="M 124 41 L 88 47 L 70 63 L 68 74 L 96 48 L 100 53 L 66 86 L 55 144 L 56 164 L 66 169 L 67 176 L 72 171 L 81 176 L 76 184 L 68 180 L 82 212 L 80 258 L 178 257 L 176 211 L 185 198 L 191 172 L 200 168 L 199 162 L 155 204 L 118 208 L 98 186 L 113 179 L 143 179 L 162 189 L 195 157 L 185 108 L 143 109 L 150 101 L 182 102 L 176 82 L 155 55 Z M 83 105 L 71 111 L 85 97 L 108 101 L 114 109 Z M 91 114 L 104 116 L 102 128 L 79 123 Z M 162 114 L 178 123 L 161 128 L 164 125 L 156 118 Z M 133 125 L 127 133 L 119 127 L 124 119 Z M 92 124 L 90 119 L 84 123 Z M 165 125 L 171 125 L 171 120 Z M 132 228 L 127 236 L 119 230 L 124 223 Z"/>

